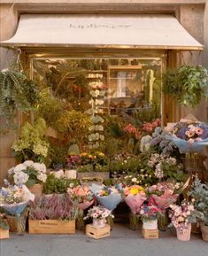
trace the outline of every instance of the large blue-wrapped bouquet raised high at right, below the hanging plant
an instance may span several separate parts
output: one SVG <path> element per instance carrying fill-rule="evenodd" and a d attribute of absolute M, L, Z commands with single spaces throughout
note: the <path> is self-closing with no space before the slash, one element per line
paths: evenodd
<path fill-rule="evenodd" d="M 170 138 L 181 152 L 207 154 L 204 147 L 208 145 L 208 125 L 198 121 L 181 121 L 171 130 Z"/>

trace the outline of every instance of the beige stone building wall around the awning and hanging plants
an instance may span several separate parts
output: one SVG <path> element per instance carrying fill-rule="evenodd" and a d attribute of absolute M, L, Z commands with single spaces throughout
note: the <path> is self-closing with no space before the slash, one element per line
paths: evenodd
<path fill-rule="evenodd" d="M 188 51 L 174 54 L 175 57 L 170 60 L 173 62 L 172 66 L 203 64 L 208 68 L 208 0 L 16 0 L 14 3 L 1 0 L 0 41 L 12 37 L 21 13 L 173 13 L 189 34 L 204 44 L 205 49 L 203 52 Z M 0 68 L 4 69 L 11 58 L 15 58 L 15 52 L 0 48 L 0 54 Z M 181 116 L 190 112 L 185 108 L 177 109 L 178 114 L 175 112 L 173 120 L 179 120 Z M 205 102 L 192 112 L 198 119 L 207 120 Z M 15 138 L 15 132 L 0 136 L 0 183 L 6 170 L 15 164 L 11 151 L 11 144 Z"/>

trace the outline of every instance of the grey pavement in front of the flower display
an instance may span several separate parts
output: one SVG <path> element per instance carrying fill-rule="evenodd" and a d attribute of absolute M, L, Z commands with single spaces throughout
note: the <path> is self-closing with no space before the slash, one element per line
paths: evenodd
<path fill-rule="evenodd" d="M 12 234 L 1 240 L 0 256 L 208 256 L 208 243 L 192 235 L 178 241 L 173 230 L 159 233 L 159 239 L 145 240 L 140 230 L 116 224 L 111 237 L 95 240 L 83 232 L 75 235 Z"/>

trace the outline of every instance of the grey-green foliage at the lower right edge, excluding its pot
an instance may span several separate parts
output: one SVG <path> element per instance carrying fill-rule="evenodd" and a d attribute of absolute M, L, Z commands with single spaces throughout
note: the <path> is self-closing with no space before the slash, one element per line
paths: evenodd
<path fill-rule="evenodd" d="M 204 221 L 204 224 L 208 226 L 208 183 L 204 184 L 196 177 L 189 195 L 195 199 L 196 210 L 203 213 L 201 221 Z"/>

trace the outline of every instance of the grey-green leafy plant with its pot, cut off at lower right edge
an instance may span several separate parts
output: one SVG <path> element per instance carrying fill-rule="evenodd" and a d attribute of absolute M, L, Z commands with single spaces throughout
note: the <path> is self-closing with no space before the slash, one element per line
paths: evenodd
<path fill-rule="evenodd" d="M 192 190 L 190 190 L 189 195 L 194 199 L 196 210 L 201 213 L 197 221 L 200 221 L 204 241 L 208 242 L 208 184 L 202 183 L 196 177 L 192 183 Z"/>

